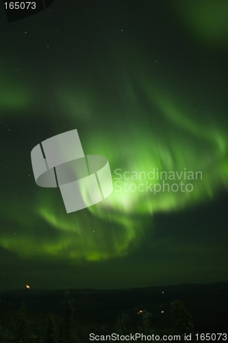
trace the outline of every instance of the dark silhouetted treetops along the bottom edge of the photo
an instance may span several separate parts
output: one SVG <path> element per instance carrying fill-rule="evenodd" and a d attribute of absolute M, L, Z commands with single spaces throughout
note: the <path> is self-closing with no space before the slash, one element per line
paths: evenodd
<path fill-rule="evenodd" d="M 77 309 L 77 311 L 80 311 Z M 44 314 L 32 316 L 27 311 L 25 303 L 18 313 L 8 314 L 8 318 L 1 318 L 1 343 L 88 343 L 90 333 L 96 335 L 129 335 L 142 333 L 144 335 L 180 335 L 194 333 L 192 316 L 184 307 L 181 300 L 174 300 L 170 310 L 170 317 L 166 327 L 157 329 L 152 314 L 147 310 L 140 310 L 137 319 L 132 320 L 131 314 L 122 313 L 116 322 L 111 324 L 94 324 L 88 321 L 80 322 L 75 316 L 75 305 L 71 295 L 66 292 L 62 304 L 62 315 Z M 76 318 L 77 317 L 77 318 Z"/>

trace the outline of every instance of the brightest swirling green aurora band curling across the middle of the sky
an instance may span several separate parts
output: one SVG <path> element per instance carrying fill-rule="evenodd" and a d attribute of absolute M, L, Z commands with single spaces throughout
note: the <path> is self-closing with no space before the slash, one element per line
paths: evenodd
<path fill-rule="evenodd" d="M 113 173 L 114 184 L 116 168 L 124 171 L 201 171 L 200 180 L 191 180 L 192 192 L 164 191 L 156 195 L 137 190 L 142 180 L 134 180 L 136 191 L 116 191 L 103 202 L 90 206 L 88 211 L 66 215 L 59 211 L 62 204 L 55 204 L 58 196 L 51 193 L 45 198 L 42 191 L 36 215 L 47 222 L 49 237 L 37 241 L 33 220 L 24 220 L 29 230 L 22 230 L 17 237 L 7 232 L 1 234 L 1 246 L 16 252 L 22 257 L 50 256 L 64 259 L 99 261 L 127 255 L 129 250 L 140 244 L 145 230 L 152 228 L 151 217 L 161 211 L 178 211 L 213 198 L 217 191 L 227 186 L 228 161 L 227 139 L 219 128 L 203 127 L 193 122 L 183 109 L 156 97 L 165 119 L 164 134 L 159 134 L 156 126 L 138 130 L 131 126 L 125 132 L 94 132 L 86 142 L 87 151 L 99 151 L 108 156 Z M 162 119 L 162 120 L 163 120 Z M 161 123 L 162 123 L 161 120 Z M 123 130 L 124 131 L 124 130 Z M 98 143 L 96 143 L 98 141 Z M 105 142 L 100 145 L 99 142 Z M 152 184 L 162 180 L 150 180 Z M 173 182 L 166 180 L 166 182 Z M 176 182 L 176 181 L 175 181 Z M 57 207 L 56 207 L 57 206 Z M 39 225 L 44 225 L 42 220 Z M 54 229 L 54 230 L 53 230 Z"/>

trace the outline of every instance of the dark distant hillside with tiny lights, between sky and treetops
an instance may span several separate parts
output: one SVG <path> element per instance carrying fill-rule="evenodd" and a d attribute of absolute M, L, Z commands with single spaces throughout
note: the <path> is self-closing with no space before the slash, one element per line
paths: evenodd
<path fill-rule="evenodd" d="M 161 335 L 167 332 L 186 333 L 188 330 L 192 335 L 197 332 L 225 332 L 227 290 L 228 283 L 106 290 L 35 289 L 34 292 L 26 292 L 25 289 L 20 289 L 18 292 L 0 292 L 0 316 L 3 316 L 5 327 L 9 327 L 12 318 L 18 321 L 23 314 L 23 318 L 29 318 L 30 330 L 36 333 L 39 329 L 45 336 L 50 316 L 58 333 L 62 316 L 69 313 L 64 309 L 71 309 L 73 331 L 76 335 L 83 335 L 84 342 L 88 341 L 86 336 L 90 332 L 118 332 L 117 324 L 124 318 L 129 332 L 135 332 L 145 316 L 151 318 L 147 322 L 147 334 L 148 330 Z M 188 326 L 175 326 L 175 309 L 177 318 Z"/>

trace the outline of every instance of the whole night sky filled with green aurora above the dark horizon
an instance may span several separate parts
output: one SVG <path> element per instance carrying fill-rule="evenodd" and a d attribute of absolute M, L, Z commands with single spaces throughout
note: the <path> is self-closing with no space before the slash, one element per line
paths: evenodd
<path fill-rule="evenodd" d="M 55 0 L 8 23 L 1 3 L 0 289 L 228 281 L 227 18 L 226 0 Z M 75 128 L 114 191 L 66 214 L 30 154 Z M 123 189 L 153 170 L 202 178 Z"/>

